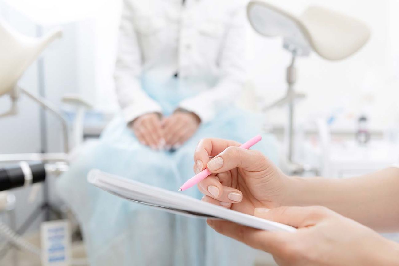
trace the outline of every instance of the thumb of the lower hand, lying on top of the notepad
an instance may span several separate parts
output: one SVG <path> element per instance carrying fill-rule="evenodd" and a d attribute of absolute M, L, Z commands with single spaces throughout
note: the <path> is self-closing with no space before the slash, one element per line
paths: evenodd
<path fill-rule="evenodd" d="M 296 228 L 315 225 L 334 214 L 333 211 L 322 206 L 278 207 L 274 209 L 255 208 L 254 211 L 256 217 Z"/>

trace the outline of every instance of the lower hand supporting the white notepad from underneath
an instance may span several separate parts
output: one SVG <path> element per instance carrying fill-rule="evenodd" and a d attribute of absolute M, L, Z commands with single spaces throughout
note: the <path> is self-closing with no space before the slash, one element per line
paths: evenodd
<path fill-rule="evenodd" d="M 325 207 L 259 208 L 254 215 L 298 231 L 269 232 L 229 221 L 207 222 L 221 234 L 270 252 L 282 266 L 398 265 L 398 244 Z"/>

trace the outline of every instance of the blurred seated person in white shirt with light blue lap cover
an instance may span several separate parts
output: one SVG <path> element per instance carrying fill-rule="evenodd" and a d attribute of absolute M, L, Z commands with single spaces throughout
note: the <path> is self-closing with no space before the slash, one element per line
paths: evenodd
<path fill-rule="evenodd" d="M 122 114 L 58 184 L 92 265 L 252 264 L 247 247 L 204 221 L 126 202 L 85 179 L 99 168 L 177 190 L 193 175 L 200 138 L 243 142 L 259 134 L 262 116 L 233 104 L 246 80 L 246 23 L 241 0 L 124 0 L 115 70 Z M 276 158 L 273 144 L 257 148 Z"/>

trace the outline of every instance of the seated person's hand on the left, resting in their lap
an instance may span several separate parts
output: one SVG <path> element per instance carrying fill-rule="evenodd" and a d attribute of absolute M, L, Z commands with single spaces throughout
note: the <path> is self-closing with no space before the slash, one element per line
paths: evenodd
<path fill-rule="evenodd" d="M 164 133 L 161 127 L 159 113 L 143 114 L 136 118 L 131 127 L 138 140 L 153 150 L 163 148 L 165 144 Z"/>

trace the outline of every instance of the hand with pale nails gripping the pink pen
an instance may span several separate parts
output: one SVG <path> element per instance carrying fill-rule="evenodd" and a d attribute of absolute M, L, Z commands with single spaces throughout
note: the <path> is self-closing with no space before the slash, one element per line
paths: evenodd
<path fill-rule="evenodd" d="M 208 167 L 213 173 L 198 183 L 207 195 L 203 200 L 247 214 L 253 214 L 255 207 L 283 204 L 289 178 L 261 152 L 240 145 L 216 138 L 198 143 L 194 171 Z"/>

